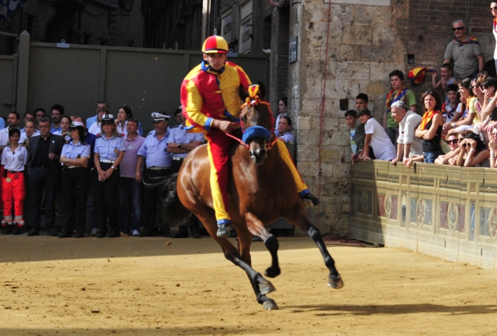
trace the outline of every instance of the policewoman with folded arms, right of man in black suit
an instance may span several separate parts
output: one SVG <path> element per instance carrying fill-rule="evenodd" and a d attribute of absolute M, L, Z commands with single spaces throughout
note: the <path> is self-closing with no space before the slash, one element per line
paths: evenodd
<path fill-rule="evenodd" d="M 69 126 L 71 142 L 65 144 L 60 155 L 64 166 L 62 172 L 62 193 L 66 204 L 64 227 L 59 238 L 85 237 L 86 195 L 90 184 L 85 165 L 90 158 L 90 145 L 83 142 L 85 127 L 83 123 L 74 121 Z"/>

